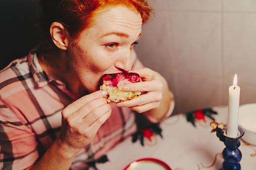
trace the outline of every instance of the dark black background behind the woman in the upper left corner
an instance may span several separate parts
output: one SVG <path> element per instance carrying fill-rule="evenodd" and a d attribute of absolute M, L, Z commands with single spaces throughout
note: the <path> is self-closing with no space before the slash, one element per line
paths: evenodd
<path fill-rule="evenodd" d="M 0 70 L 41 39 L 39 0 L 0 0 Z"/>

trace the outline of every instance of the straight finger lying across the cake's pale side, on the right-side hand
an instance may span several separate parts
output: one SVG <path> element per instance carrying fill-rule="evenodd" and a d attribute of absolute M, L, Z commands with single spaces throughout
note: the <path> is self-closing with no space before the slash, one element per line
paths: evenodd
<path fill-rule="evenodd" d="M 162 82 L 159 80 L 129 83 L 122 87 L 124 91 L 161 91 Z"/>

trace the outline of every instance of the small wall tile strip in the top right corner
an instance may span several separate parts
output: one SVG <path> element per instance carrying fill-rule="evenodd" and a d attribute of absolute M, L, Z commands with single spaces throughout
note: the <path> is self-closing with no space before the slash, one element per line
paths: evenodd
<path fill-rule="evenodd" d="M 256 12 L 255 0 L 223 0 L 225 12 Z"/>

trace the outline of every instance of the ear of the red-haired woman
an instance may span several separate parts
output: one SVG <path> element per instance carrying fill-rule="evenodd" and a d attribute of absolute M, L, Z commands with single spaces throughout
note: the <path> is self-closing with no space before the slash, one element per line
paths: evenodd
<path fill-rule="evenodd" d="M 64 32 L 64 27 L 62 24 L 54 22 L 50 27 L 50 34 L 53 43 L 62 50 L 66 50 L 68 46 L 68 39 Z"/>

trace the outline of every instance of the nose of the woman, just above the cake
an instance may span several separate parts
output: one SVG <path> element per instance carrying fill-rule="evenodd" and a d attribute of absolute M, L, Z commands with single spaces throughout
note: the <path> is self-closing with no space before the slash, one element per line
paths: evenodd
<path fill-rule="evenodd" d="M 120 57 L 115 63 L 115 67 L 129 71 L 132 68 L 132 62 L 131 62 L 131 57 L 132 57 L 132 51 L 131 50 L 126 50 L 125 52 L 122 52 L 120 54 Z"/>

